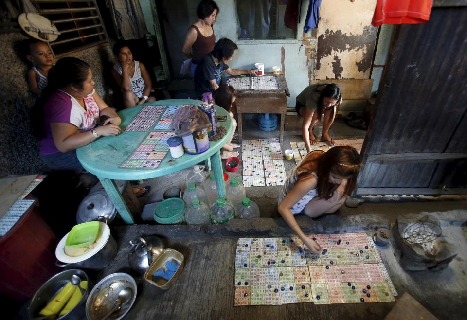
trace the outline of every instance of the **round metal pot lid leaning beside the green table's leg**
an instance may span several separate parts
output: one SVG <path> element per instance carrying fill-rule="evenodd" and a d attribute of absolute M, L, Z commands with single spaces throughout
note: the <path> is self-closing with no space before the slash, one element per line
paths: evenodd
<path fill-rule="evenodd" d="M 76 222 L 94 221 L 97 217 L 103 216 L 110 223 L 116 214 L 115 205 L 108 197 L 106 191 L 101 190 L 89 194 L 81 201 L 76 213 Z"/>

